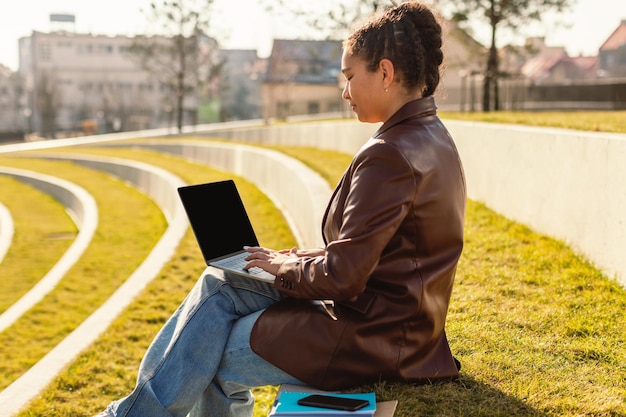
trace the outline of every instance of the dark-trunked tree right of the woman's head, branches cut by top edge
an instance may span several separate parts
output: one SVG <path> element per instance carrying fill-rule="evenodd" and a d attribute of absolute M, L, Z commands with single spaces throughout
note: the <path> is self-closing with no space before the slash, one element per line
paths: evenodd
<path fill-rule="evenodd" d="M 531 21 L 540 21 L 548 11 L 562 12 L 575 0 L 438 0 L 452 7 L 452 20 L 460 26 L 486 21 L 491 28 L 491 44 L 483 81 L 483 111 L 500 110 L 498 76 L 499 60 L 497 33 L 502 28 L 517 32 Z M 493 94 L 493 106 L 492 97 Z"/>

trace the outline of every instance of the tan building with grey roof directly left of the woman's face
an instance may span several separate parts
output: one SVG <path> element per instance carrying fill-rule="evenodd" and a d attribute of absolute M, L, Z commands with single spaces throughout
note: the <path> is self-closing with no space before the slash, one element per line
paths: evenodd
<path fill-rule="evenodd" d="M 342 109 L 341 42 L 276 39 L 261 86 L 263 117 Z"/>

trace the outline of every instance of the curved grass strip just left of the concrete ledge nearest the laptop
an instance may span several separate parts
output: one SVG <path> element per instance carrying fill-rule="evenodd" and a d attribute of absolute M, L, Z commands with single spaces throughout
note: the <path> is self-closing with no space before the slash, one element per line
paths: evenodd
<path fill-rule="evenodd" d="M 147 256 L 163 232 L 165 221 L 150 199 L 107 174 L 67 162 L 0 158 L 0 164 L 74 182 L 91 193 L 99 207 L 99 225 L 81 259 L 42 301 L 0 333 L 3 389 L 113 293 Z M 129 230 L 135 233 L 128 233 Z M 30 257 L 22 262 L 30 263 Z"/>

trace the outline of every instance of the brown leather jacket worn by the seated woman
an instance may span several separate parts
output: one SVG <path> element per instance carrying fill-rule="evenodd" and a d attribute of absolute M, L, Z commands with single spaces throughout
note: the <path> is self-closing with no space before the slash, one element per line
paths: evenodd
<path fill-rule="evenodd" d="M 407 103 L 335 189 L 325 255 L 281 266 L 274 286 L 288 297 L 257 320 L 253 350 L 328 390 L 457 377 L 444 324 L 465 200 L 463 168 L 434 99 Z M 337 320 L 315 299 L 334 300 Z"/>

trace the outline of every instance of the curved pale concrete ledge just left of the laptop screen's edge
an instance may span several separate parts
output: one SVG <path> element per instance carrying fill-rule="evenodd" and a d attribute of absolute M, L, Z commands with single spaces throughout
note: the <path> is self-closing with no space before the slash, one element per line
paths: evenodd
<path fill-rule="evenodd" d="M 39 155 L 41 157 L 41 155 Z M 2 415 L 13 415 L 44 389 L 82 350 L 87 348 L 161 271 L 187 231 L 187 219 L 177 199 L 178 177 L 135 161 L 74 155 L 50 156 L 105 170 L 126 179 L 151 196 L 167 213 L 169 226 L 143 263 L 117 291 L 71 334 L 0 393 Z"/>

